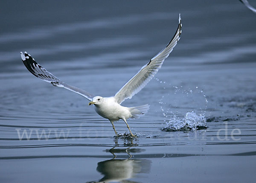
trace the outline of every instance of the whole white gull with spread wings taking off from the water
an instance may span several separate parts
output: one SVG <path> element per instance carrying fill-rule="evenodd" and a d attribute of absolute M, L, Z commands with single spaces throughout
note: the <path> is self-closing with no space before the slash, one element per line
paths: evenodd
<path fill-rule="evenodd" d="M 155 76 L 155 74 L 161 68 L 163 61 L 172 52 L 172 49 L 176 46 L 177 41 L 180 40 L 181 26 L 181 18 L 179 15 L 177 31 L 169 44 L 167 44 L 167 46 L 157 55 L 151 58 L 151 60 L 148 61 L 148 63 L 145 64 L 137 74 L 135 74 L 129 81 L 127 81 L 115 94 L 115 96 L 111 97 L 95 96 L 85 90 L 81 90 L 80 88 L 66 84 L 55 77 L 52 73 L 49 73 L 46 69 L 44 69 L 44 67 L 39 65 L 35 59 L 32 58 L 31 55 L 29 55 L 27 52 L 24 52 L 24 54 L 23 52 L 20 52 L 20 56 L 27 70 L 29 70 L 29 72 L 34 76 L 51 83 L 55 87 L 63 87 L 67 90 L 78 93 L 79 95 L 89 100 L 89 105 L 94 105 L 96 113 L 111 122 L 116 137 L 119 137 L 120 135 L 116 132 L 114 122 L 118 121 L 119 119 L 122 119 L 125 122 L 131 133 L 131 137 L 136 137 L 131 132 L 131 129 L 126 120 L 129 118 L 137 119 L 144 115 L 148 111 L 149 105 L 146 104 L 137 107 L 125 107 L 121 104 L 125 99 L 131 99 L 132 96 L 143 89 L 143 87 L 145 87 L 145 85 Z"/>

